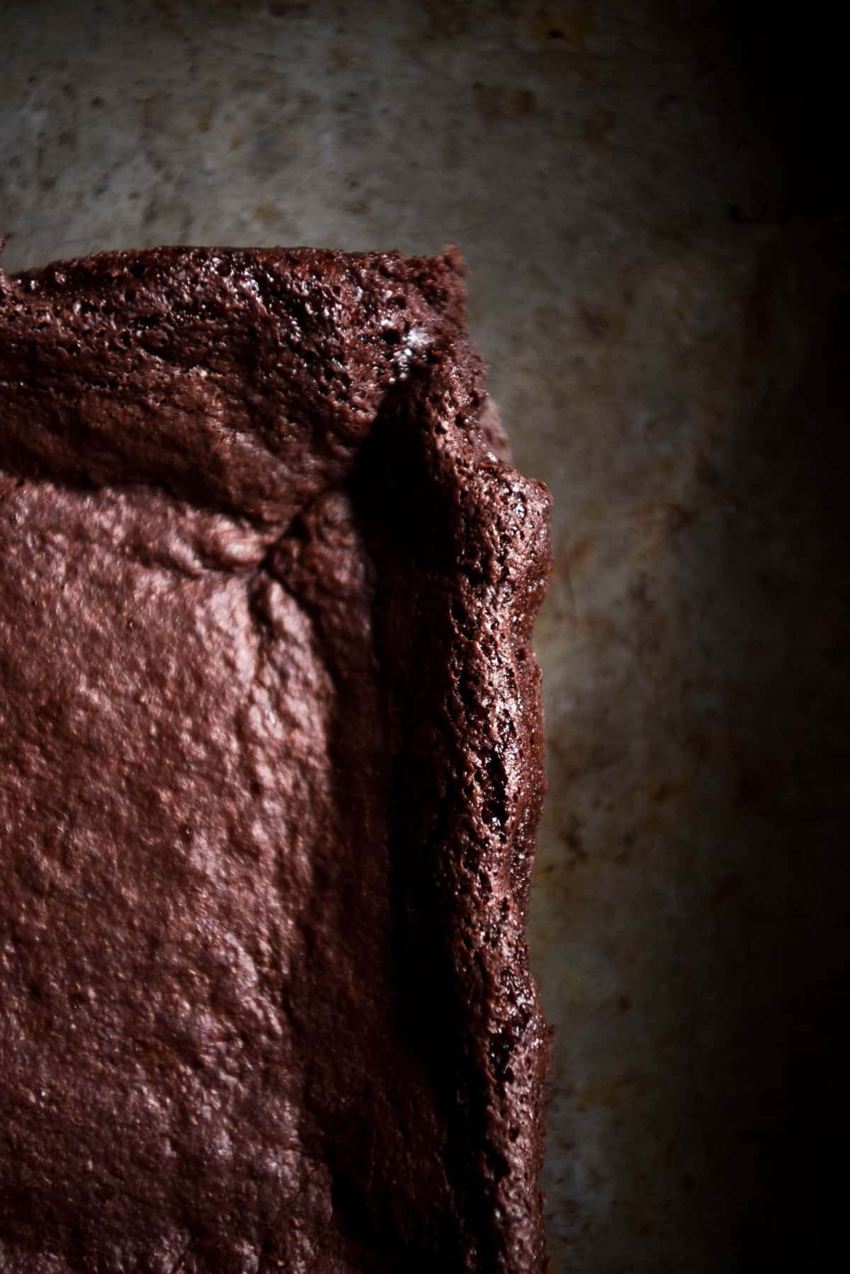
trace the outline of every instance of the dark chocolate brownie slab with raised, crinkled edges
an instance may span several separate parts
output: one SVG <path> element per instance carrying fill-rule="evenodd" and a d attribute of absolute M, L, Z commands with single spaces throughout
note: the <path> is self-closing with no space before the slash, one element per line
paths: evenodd
<path fill-rule="evenodd" d="M 0 1270 L 543 1268 L 545 489 L 463 266 L 0 274 Z"/>

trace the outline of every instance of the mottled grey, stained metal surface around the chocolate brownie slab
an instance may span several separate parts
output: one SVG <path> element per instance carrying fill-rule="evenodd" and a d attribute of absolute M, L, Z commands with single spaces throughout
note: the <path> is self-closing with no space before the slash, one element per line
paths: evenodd
<path fill-rule="evenodd" d="M 839 45 L 817 6 L 735 8 L 0 9 L 8 269 L 466 255 L 554 494 L 531 947 L 565 1274 L 832 1268 L 846 1199 Z"/>

